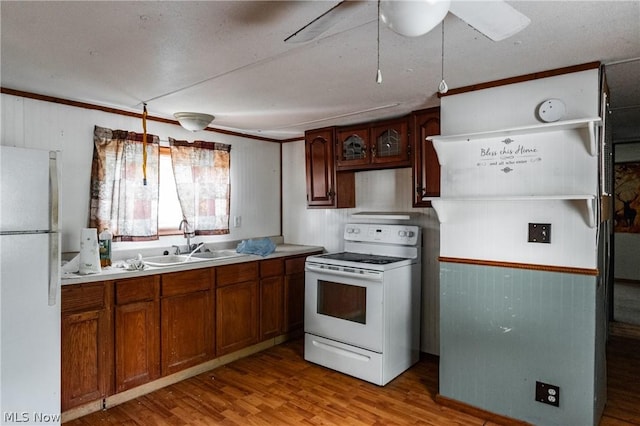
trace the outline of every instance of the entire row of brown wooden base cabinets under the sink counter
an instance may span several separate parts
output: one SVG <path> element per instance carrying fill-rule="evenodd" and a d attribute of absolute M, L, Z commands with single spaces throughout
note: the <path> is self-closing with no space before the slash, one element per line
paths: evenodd
<path fill-rule="evenodd" d="M 62 287 L 62 411 L 303 330 L 310 254 Z"/>

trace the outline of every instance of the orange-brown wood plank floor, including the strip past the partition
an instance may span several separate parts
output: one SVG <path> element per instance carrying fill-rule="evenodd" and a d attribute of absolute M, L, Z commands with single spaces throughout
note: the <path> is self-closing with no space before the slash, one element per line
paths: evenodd
<path fill-rule="evenodd" d="M 640 425 L 640 340 L 611 337 L 602 426 Z M 434 402 L 426 356 L 379 387 L 303 359 L 295 340 L 65 423 L 99 425 L 495 425 Z"/>

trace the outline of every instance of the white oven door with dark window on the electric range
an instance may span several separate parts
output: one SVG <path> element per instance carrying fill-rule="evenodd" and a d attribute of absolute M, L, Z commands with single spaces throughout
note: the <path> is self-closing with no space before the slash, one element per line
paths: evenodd
<path fill-rule="evenodd" d="M 382 353 L 383 272 L 324 266 L 305 266 L 305 332 Z"/>

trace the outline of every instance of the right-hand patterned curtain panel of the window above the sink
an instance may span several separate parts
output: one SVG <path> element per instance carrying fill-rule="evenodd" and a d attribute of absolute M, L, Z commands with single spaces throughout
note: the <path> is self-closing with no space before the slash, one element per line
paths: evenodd
<path fill-rule="evenodd" d="M 231 145 L 169 138 L 182 215 L 196 235 L 229 233 Z"/>

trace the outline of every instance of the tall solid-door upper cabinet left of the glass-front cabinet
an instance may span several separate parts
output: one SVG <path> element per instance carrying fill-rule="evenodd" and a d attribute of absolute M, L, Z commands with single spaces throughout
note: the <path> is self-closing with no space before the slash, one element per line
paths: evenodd
<path fill-rule="evenodd" d="M 309 208 L 355 207 L 354 172 L 337 172 L 334 160 L 335 129 L 305 134 L 307 206 Z"/>

